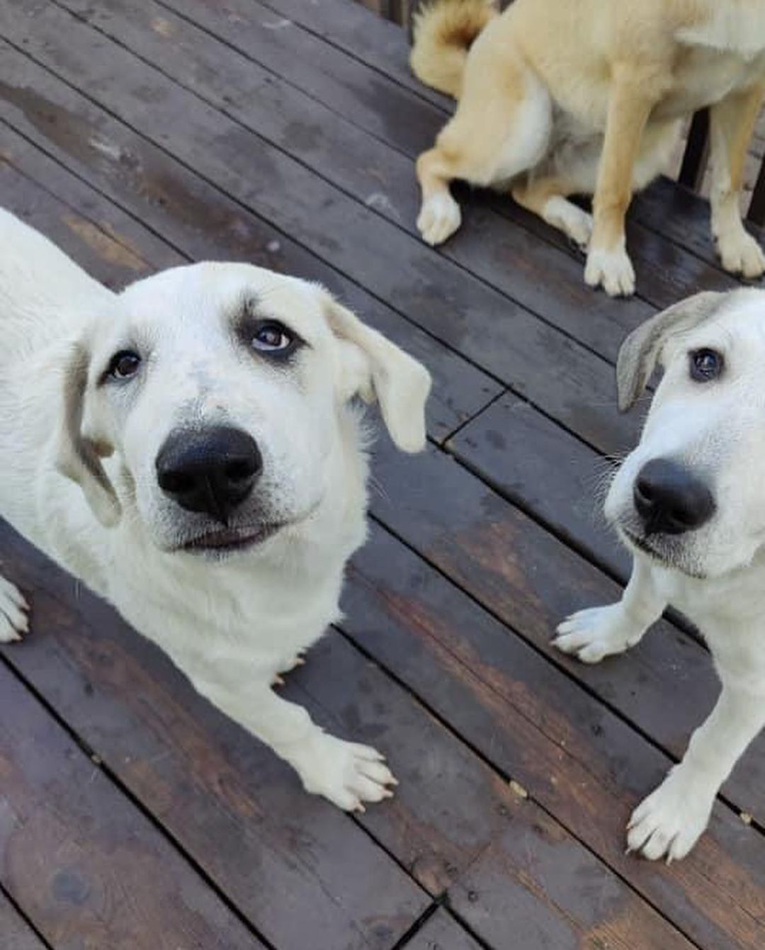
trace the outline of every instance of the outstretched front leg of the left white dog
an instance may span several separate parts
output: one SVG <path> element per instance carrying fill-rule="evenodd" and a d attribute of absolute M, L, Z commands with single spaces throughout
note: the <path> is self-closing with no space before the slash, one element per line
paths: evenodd
<path fill-rule="evenodd" d="M 307 791 L 346 811 L 363 811 L 363 802 L 392 796 L 388 786 L 396 781 L 377 750 L 328 735 L 301 706 L 273 693 L 265 677 L 253 681 L 223 670 L 216 675 L 213 665 L 191 679 L 202 695 L 289 762 Z"/>

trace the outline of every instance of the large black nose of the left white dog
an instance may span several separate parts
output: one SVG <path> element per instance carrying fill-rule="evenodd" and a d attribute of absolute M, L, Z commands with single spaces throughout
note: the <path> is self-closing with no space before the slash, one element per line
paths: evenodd
<path fill-rule="evenodd" d="M 174 432 L 157 456 L 157 481 L 187 511 L 225 524 L 262 471 L 258 443 L 239 428 Z"/>

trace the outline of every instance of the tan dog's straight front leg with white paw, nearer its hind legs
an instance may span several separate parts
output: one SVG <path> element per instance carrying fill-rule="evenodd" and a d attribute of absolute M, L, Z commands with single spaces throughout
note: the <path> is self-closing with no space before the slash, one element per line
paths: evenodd
<path fill-rule="evenodd" d="M 613 68 L 598 181 L 593 198 L 593 228 L 584 280 L 611 296 L 635 292 L 635 271 L 627 256 L 624 216 L 632 198 L 632 177 L 645 123 L 658 101 L 650 77 L 634 67 Z"/>

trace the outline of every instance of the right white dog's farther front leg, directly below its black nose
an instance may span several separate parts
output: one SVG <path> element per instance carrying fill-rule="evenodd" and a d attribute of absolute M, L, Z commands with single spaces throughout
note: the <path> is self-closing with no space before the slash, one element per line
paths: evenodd
<path fill-rule="evenodd" d="M 618 603 L 590 607 L 561 623 L 553 645 L 584 663 L 620 654 L 634 646 L 667 605 L 654 582 L 651 565 L 636 555 L 632 575 Z"/>

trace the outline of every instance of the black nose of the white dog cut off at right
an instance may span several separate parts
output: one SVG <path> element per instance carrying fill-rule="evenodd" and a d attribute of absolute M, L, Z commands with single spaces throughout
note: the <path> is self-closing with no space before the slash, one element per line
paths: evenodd
<path fill-rule="evenodd" d="M 646 534 L 693 531 L 715 513 L 707 485 L 671 459 L 646 462 L 635 479 L 633 495 Z"/>

